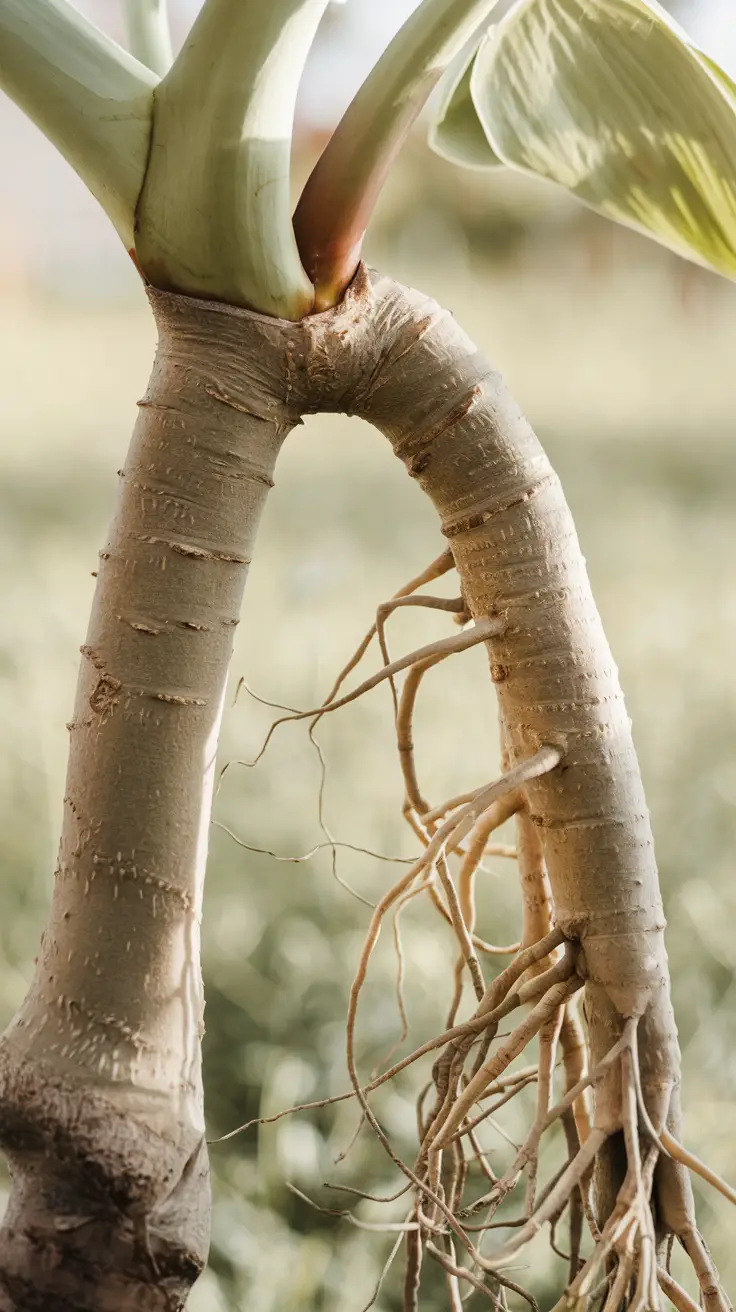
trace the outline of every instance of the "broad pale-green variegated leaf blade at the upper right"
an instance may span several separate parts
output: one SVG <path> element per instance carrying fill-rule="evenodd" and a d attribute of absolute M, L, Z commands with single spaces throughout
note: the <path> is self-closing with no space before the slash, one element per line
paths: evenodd
<path fill-rule="evenodd" d="M 505 164 L 736 278 L 736 89 L 653 0 L 520 0 L 471 94 Z"/>

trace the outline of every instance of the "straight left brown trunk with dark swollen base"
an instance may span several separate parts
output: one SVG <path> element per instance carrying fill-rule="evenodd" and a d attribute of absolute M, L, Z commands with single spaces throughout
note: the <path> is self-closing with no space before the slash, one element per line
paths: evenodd
<path fill-rule="evenodd" d="M 178 1307 L 207 1250 L 199 917 L 216 735 L 298 412 L 266 320 L 152 302 L 160 344 L 81 648 L 51 918 L 0 1048 L 3 1308 Z"/>

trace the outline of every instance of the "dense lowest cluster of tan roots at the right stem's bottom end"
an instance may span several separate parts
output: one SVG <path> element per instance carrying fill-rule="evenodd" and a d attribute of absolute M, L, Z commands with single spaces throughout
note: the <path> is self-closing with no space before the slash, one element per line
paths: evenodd
<path fill-rule="evenodd" d="M 501 976 L 493 981 L 471 1017 L 471 1022 L 485 1021 L 488 1029 L 496 1029 L 499 1021 L 513 1009 L 514 1001 L 518 1005 L 522 1001 L 533 1001 L 533 989 L 537 988 L 538 1000 L 525 1019 L 487 1057 L 483 1065 L 476 1067 L 470 1078 L 463 1072 L 472 1048 L 470 1022 L 468 1033 L 457 1034 L 447 1044 L 446 1060 L 436 1061 L 437 1103 L 434 1114 L 429 1119 L 429 1124 L 426 1118 L 420 1119 L 422 1144 L 413 1169 L 404 1165 L 401 1168 L 413 1177 L 416 1193 L 413 1219 L 420 1227 L 419 1232 L 411 1236 L 411 1240 L 407 1237 L 412 1257 L 408 1266 L 411 1279 L 405 1287 L 404 1307 L 409 1312 L 415 1312 L 419 1307 L 419 1282 L 424 1253 L 437 1261 L 451 1278 L 447 1286 L 451 1308 L 462 1298 L 459 1288 L 463 1283 L 483 1292 L 495 1307 L 502 1307 L 496 1282 L 506 1283 L 509 1262 L 539 1231 L 548 1224 L 555 1225 L 564 1210 L 572 1207 L 575 1198 L 586 1200 L 586 1207 L 581 1208 L 580 1214 L 589 1212 L 588 1191 L 593 1165 L 610 1134 L 619 1130 L 626 1149 L 626 1177 L 614 1210 L 602 1228 L 598 1229 L 593 1221 L 594 1246 L 583 1263 L 577 1256 L 580 1252 L 577 1241 L 569 1283 L 554 1312 L 572 1312 L 573 1308 L 583 1307 L 597 1307 L 602 1312 L 621 1312 L 623 1307 L 628 1312 L 653 1312 L 660 1307 L 660 1288 L 670 1298 L 677 1312 L 680 1309 L 691 1312 L 695 1304 L 657 1261 L 652 1195 L 655 1166 L 660 1149 L 647 1140 L 639 1114 L 635 1056 L 638 1018 L 634 1017 L 624 1023 L 621 1038 L 611 1046 L 606 1056 L 575 1082 L 571 1082 L 571 1073 L 581 1069 L 581 1064 L 576 1060 L 575 1065 L 568 1063 L 565 1067 L 563 1057 L 567 1088 L 564 1097 L 552 1106 L 555 1052 L 560 1042 L 564 1009 L 572 993 L 580 988 L 581 981 L 575 975 L 576 954 L 569 945 L 562 959 L 554 959 L 555 950 L 559 947 L 559 938 L 554 932 L 547 935 L 547 939 L 533 946 L 535 951 L 527 949 L 520 954 L 521 962 L 516 970 L 508 968 L 506 972 L 502 972 L 505 981 L 499 983 Z M 530 975 L 530 967 L 543 964 L 550 959 L 554 964 L 547 966 L 542 975 Z M 512 963 L 512 966 L 514 964 Z M 460 1029 L 455 1027 L 455 1030 Z M 539 1064 L 535 1069 L 527 1068 L 514 1077 L 508 1067 L 523 1051 L 533 1034 L 539 1038 Z M 558 1172 L 556 1178 L 542 1190 L 539 1198 L 535 1198 L 537 1161 L 544 1132 L 555 1122 L 563 1120 L 564 1117 L 572 1117 L 572 1110 L 576 1103 L 580 1105 L 583 1094 L 588 1089 L 594 1089 L 613 1067 L 618 1067 L 621 1080 L 619 1122 L 606 1126 L 586 1124 L 584 1140 L 575 1134 L 577 1144 L 575 1153 Z M 492 1080 L 493 1082 L 491 1082 Z M 483 1157 L 483 1148 L 478 1144 L 476 1132 L 484 1115 L 496 1109 L 495 1103 L 484 1113 L 483 1102 L 491 1090 L 499 1089 L 500 1084 L 505 1084 L 505 1088 L 499 1106 L 531 1082 L 537 1084 L 537 1115 L 531 1131 L 505 1174 L 500 1179 L 493 1179 L 491 1176 L 491 1191 L 476 1199 L 475 1203 L 463 1207 L 462 1198 L 468 1179 L 468 1166 L 478 1157 Z M 471 1109 L 476 1105 L 480 1105 L 481 1110 L 470 1115 Z M 474 1155 L 470 1157 L 464 1153 L 463 1143 L 471 1143 L 474 1148 Z M 527 1215 L 514 1220 L 505 1218 L 497 1221 L 492 1220 L 525 1170 L 527 1172 Z M 481 1225 L 468 1224 L 470 1218 L 481 1210 L 488 1211 Z M 487 1256 L 480 1250 L 472 1235 L 479 1231 L 487 1233 L 496 1228 L 508 1228 L 512 1233 L 500 1249 Z M 712 1262 L 698 1232 L 689 1228 L 681 1236 L 681 1242 L 701 1282 L 703 1307 L 708 1312 L 726 1312 L 728 1304 L 723 1300 Z M 458 1244 L 470 1258 L 467 1266 L 458 1257 Z M 530 1302 L 534 1305 L 533 1300 Z"/>

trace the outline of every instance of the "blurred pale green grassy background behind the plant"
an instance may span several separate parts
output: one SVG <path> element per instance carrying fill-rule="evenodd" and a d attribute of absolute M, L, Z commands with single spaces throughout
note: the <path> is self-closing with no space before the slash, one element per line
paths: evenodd
<path fill-rule="evenodd" d="M 85 12 L 122 38 L 113 0 Z M 195 5 L 172 0 L 180 41 Z M 348 0 L 325 16 L 299 108 L 295 178 L 413 0 Z M 673 7 L 674 8 L 674 7 Z M 736 73 L 731 0 L 678 16 Z M 20 1004 L 43 925 L 60 823 L 79 644 L 96 552 L 155 346 L 133 268 L 67 165 L 0 101 L 0 1022 Z M 736 1178 L 736 291 L 551 188 L 459 173 L 419 130 L 379 206 L 369 257 L 450 306 L 506 375 L 567 488 L 634 718 L 659 845 L 685 1060 L 689 1145 Z M 377 604 L 442 550 L 429 505 L 383 440 L 357 421 L 310 420 L 285 451 L 248 584 L 234 661 L 258 697 L 308 706 Z M 438 585 L 451 592 L 451 583 Z M 396 652 L 450 631 L 401 615 Z M 373 657 L 375 661 L 375 655 Z M 374 665 L 369 663 L 366 669 Z M 241 693 L 222 761 L 248 761 L 270 722 Z M 336 838 L 408 858 L 388 694 L 320 727 Z M 440 800 L 497 766 L 495 705 L 479 652 L 434 670 L 422 694 L 422 782 Z M 287 726 L 257 766 L 232 765 L 215 806 L 203 925 L 205 1076 L 211 1136 L 346 1088 L 344 1014 L 369 917 L 392 867 L 320 841 L 319 762 Z M 489 862 L 481 930 L 513 939 L 509 862 Z M 359 1015 L 362 1069 L 399 1036 L 391 935 Z M 404 921 L 412 1039 L 441 1026 L 453 950 L 430 907 Z M 420 1076 L 377 1097 L 411 1157 Z M 529 1109 L 485 1135 L 502 1169 Z M 312 1210 L 353 1200 L 324 1181 L 391 1191 L 396 1177 L 349 1103 L 286 1118 L 213 1149 L 211 1263 L 193 1312 L 361 1312 L 391 1237 Z M 508 1136 L 508 1138 L 506 1138 Z M 349 1149 L 349 1151 L 348 1151 Z M 550 1145 L 551 1157 L 558 1151 Z M 733 1212 L 695 1182 L 699 1215 L 736 1292 Z M 357 1215 L 398 1219 L 358 1204 Z M 399 1211 L 396 1210 L 399 1208 Z M 396 1263 L 398 1266 L 399 1263 Z M 517 1275 L 544 1309 L 560 1270 L 544 1244 Z M 471 1300 L 472 1302 L 472 1300 Z M 478 1303 L 480 1300 L 476 1300 Z M 378 1298 L 400 1307 L 399 1274 Z M 472 1302 L 475 1305 L 475 1302 Z M 422 1312 L 446 1307 L 428 1282 Z"/>

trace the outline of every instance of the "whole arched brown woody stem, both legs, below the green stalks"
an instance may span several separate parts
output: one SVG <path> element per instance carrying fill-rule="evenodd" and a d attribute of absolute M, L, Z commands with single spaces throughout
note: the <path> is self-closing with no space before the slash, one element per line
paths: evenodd
<path fill-rule="evenodd" d="M 299 415 L 382 429 L 434 501 L 489 640 L 555 924 L 579 945 L 590 1057 L 640 1017 L 644 1099 L 677 1135 L 664 920 L 630 723 L 550 464 L 449 314 L 363 266 L 335 310 L 285 323 L 152 294 L 160 346 L 121 482 L 71 727 L 52 911 L 0 1044 L 13 1172 L 0 1312 L 180 1308 L 205 1258 L 198 925 L 234 625 L 281 442 Z M 622 1124 L 617 1068 L 596 1126 Z M 665 1228 L 691 1227 L 660 1176 Z M 600 1189 L 602 1211 L 610 1189 Z"/>

